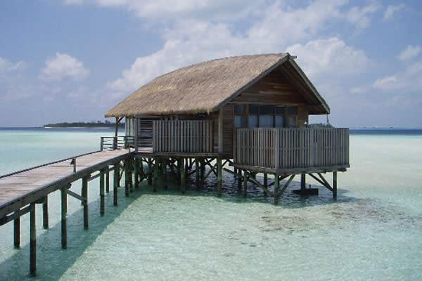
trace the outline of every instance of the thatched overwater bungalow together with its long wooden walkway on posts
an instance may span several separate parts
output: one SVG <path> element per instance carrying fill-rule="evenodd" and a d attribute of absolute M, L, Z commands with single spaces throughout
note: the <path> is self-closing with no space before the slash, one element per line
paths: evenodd
<path fill-rule="evenodd" d="M 99 178 L 103 216 L 110 172 L 114 206 L 122 178 L 128 197 L 142 180 L 153 190 L 166 188 L 170 171 L 182 191 L 188 176 L 195 174 L 200 187 L 215 174 L 221 195 L 224 171 L 236 176 L 244 195 L 252 183 L 275 203 L 296 175 L 299 193 L 315 191 L 306 188 L 309 175 L 336 197 L 337 172 L 349 167 L 349 132 L 307 127 L 309 115 L 328 113 L 324 98 L 288 53 L 183 67 L 141 86 L 107 112 L 116 118 L 116 130 L 115 136 L 101 138 L 101 150 L 0 176 L 0 226 L 13 221 L 13 244 L 19 248 L 21 216 L 30 214 L 30 274 L 36 275 L 36 204 L 42 204 L 42 225 L 48 229 L 48 197 L 60 190 L 61 246 L 66 249 L 68 197 L 82 202 L 83 226 L 88 229 L 89 182 Z M 125 136 L 117 136 L 123 118 Z M 332 183 L 324 177 L 328 172 L 333 173 Z M 80 193 L 70 189 L 79 180 Z"/>

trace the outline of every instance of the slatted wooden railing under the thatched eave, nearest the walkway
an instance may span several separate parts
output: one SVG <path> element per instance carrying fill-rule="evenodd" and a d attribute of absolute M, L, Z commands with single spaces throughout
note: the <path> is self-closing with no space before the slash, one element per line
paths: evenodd
<path fill-rule="evenodd" d="M 154 120 L 153 152 L 212 152 L 212 120 Z"/>

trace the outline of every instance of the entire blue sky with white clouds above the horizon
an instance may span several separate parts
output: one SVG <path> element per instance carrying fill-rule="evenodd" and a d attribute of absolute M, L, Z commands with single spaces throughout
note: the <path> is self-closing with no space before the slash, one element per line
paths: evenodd
<path fill-rule="evenodd" d="M 1 1 L 0 126 L 103 119 L 178 67 L 289 51 L 335 126 L 420 127 L 421 27 L 419 1 Z"/>

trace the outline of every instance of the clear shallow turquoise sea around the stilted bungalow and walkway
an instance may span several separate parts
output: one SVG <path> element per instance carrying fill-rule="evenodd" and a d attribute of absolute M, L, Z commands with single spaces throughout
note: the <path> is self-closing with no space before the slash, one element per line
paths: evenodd
<path fill-rule="evenodd" d="M 112 129 L 0 129 L 0 174 L 99 148 Z M 119 206 L 89 183 L 89 230 L 68 198 L 68 249 L 60 247 L 59 193 L 49 196 L 50 229 L 37 207 L 37 273 L 30 278 L 28 216 L 22 249 L 13 223 L 0 227 L 0 280 L 422 280 L 422 130 L 355 129 L 350 169 L 338 174 L 338 200 L 300 197 L 295 178 L 279 206 L 259 189 L 245 199 L 233 176 L 153 193 L 145 184 Z M 331 180 L 331 174 L 327 174 Z M 112 177 L 110 177 L 112 178 Z M 72 185 L 80 191 L 80 182 Z"/>

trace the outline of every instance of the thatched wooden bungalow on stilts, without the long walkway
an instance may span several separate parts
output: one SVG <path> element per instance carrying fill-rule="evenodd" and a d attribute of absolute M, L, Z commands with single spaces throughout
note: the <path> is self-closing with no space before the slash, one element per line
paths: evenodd
<path fill-rule="evenodd" d="M 182 190 L 189 169 L 195 169 L 200 182 L 209 166 L 219 195 L 222 171 L 227 171 L 239 185 L 254 183 L 275 202 L 299 174 L 299 192 L 315 191 L 306 188 L 309 175 L 336 197 L 337 172 L 349 167 L 348 129 L 307 127 L 309 115 L 329 113 L 295 56 L 220 58 L 161 75 L 124 98 L 106 117 L 115 117 L 116 124 L 125 118 L 125 136 L 117 137 L 116 130 L 115 138 L 103 138 L 101 147 L 129 145 L 141 161 L 137 165 L 147 162 L 157 180 L 166 176 L 167 167 L 176 166 Z M 323 176 L 327 172 L 333 173 L 332 184 Z M 264 174 L 263 183 L 257 173 Z M 274 175 L 273 183 L 268 174 Z M 283 178 L 288 181 L 281 186 Z"/>

